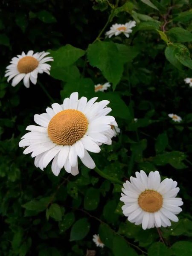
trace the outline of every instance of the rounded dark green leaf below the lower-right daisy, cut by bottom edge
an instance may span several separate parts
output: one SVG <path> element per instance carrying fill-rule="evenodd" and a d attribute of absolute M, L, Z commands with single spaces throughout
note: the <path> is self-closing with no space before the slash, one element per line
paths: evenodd
<path fill-rule="evenodd" d="M 161 242 L 155 242 L 148 249 L 148 256 L 169 256 L 170 250 L 165 244 Z"/>

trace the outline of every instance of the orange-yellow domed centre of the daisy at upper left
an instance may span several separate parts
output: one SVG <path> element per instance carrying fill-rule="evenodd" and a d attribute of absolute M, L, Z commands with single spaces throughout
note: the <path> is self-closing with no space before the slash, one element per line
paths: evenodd
<path fill-rule="evenodd" d="M 19 60 L 17 63 L 17 70 L 19 73 L 30 73 L 33 70 L 35 70 L 36 67 L 38 67 L 39 62 L 36 60 L 36 58 L 31 56 L 23 57 Z"/>

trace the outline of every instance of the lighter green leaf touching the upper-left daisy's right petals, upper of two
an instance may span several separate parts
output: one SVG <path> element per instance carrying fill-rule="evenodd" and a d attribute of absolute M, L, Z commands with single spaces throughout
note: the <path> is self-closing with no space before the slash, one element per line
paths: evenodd
<path fill-rule="evenodd" d="M 73 47 L 70 44 L 66 44 L 55 51 L 48 50 L 48 52 L 50 52 L 50 56 L 52 56 L 54 59 L 54 61 L 51 63 L 51 68 L 70 66 L 85 54 L 85 51 Z"/>

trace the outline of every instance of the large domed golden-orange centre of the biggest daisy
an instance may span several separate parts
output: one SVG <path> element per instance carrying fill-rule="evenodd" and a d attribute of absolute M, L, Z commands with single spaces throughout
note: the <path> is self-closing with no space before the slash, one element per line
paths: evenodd
<path fill-rule="evenodd" d="M 88 121 L 83 113 L 67 109 L 57 113 L 49 122 L 49 138 L 58 145 L 73 145 L 87 131 Z"/>

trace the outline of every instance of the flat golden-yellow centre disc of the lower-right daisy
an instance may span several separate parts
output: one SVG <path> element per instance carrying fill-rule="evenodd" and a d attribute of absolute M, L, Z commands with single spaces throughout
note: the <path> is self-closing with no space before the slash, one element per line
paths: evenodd
<path fill-rule="evenodd" d="M 138 204 L 145 212 L 157 212 L 163 205 L 163 197 L 153 190 L 145 190 L 140 194 Z"/>

